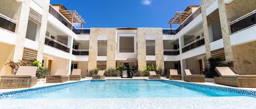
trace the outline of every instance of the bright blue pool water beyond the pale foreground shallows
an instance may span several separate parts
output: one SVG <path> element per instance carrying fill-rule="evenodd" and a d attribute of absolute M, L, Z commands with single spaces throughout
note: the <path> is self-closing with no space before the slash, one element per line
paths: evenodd
<path fill-rule="evenodd" d="M 170 98 L 170 97 L 234 97 L 239 93 L 210 88 L 184 87 L 154 80 L 91 80 L 69 87 L 26 94 L 17 99 L 79 98 Z"/>

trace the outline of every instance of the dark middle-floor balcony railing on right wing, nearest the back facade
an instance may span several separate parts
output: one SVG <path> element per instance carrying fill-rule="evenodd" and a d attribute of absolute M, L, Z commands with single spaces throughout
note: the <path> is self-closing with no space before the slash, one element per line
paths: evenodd
<path fill-rule="evenodd" d="M 185 46 L 182 47 L 182 53 L 183 52 L 187 52 L 188 50 L 190 49 L 194 49 L 194 48 L 197 48 L 199 46 L 202 46 L 205 44 L 205 37 L 200 37 L 199 39 L 197 40 L 194 40 L 188 44 L 186 44 Z"/>

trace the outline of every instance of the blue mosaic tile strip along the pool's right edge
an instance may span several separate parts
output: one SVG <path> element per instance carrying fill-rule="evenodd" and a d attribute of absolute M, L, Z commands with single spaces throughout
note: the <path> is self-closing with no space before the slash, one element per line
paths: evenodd
<path fill-rule="evenodd" d="M 190 82 L 180 82 L 180 81 L 174 81 L 174 80 L 157 80 L 161 82 L 165 82 L 167 84 L 172 84 L 184 88 L 207 88 L 207 89 L 215 89 L 218 91 L 226 91 L 230 93 L 238 93 L 241 95 L 247 95 L 250 97 L 256 98 L 256 91 L 249 91 L 246 89 L 239 89 L 239 88 L 232 88 L 232 87 L 221 87 L 221 86 L 212 86 L 212 85 L 202 85 L 202 84 L 194 84 Z"/>

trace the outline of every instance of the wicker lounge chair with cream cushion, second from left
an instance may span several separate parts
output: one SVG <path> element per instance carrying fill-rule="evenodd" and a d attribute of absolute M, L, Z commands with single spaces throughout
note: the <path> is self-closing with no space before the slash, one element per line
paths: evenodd
<path fill-rule="evenodd" d="M 67 69 L 57 69 L 55 75 L 45 75 L 46 83 L 59 83 L 68 81 L 68 70 Z"/>

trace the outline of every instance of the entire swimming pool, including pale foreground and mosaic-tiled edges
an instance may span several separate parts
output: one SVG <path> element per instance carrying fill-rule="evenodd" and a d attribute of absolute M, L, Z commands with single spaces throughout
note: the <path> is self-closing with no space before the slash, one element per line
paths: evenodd
<path fill-rule="evenodd" d="M 0 108 L 254 109 L 255 97 L 255 91 L 172 80 L 85 80 L 0 93 Z"/>

